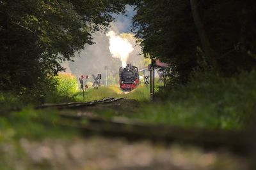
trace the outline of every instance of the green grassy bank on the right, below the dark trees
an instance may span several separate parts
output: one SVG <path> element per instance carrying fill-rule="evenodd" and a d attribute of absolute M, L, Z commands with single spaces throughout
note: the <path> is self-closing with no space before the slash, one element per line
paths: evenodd
<path fill-rule="evenodd" d="M 164 101 L 144 106 L 135 117 L 184 127 L 243 129 L 255 121 L 255 80 L 255 71 L 233 78 L 197 72 L 188 85 L 165 90 Z"/>

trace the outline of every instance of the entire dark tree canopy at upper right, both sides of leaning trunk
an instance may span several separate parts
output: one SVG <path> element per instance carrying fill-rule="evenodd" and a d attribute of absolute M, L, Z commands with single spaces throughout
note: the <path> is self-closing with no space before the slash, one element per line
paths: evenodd
<path fill-rule="evenodd" d="M 142 39 L 143 52 L 170 62 L 181 82 L 203 60 L 209 67 L 214 67 L 215 60 L 218 72 L 230 75 L 255 67 L 255 3 L 133 1 L 137 11 L 133 31 Z"/>

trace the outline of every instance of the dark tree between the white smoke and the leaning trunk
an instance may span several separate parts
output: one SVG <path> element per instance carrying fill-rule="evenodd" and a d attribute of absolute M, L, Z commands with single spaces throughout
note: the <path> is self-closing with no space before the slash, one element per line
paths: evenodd
<path fill-rule="evenodd" d="M 136 1 L 133 31 L 143 52 L 172 65 L 185 82 L 197 66 L 196 45 L 200 40 L 189 1 Z"/>

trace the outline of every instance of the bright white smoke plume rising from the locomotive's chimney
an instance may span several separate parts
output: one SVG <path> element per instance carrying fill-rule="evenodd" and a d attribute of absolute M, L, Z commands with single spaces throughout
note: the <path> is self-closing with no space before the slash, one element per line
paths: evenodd
<path fill-rule="evenodd" d="M 129 53 L 131 53 L 134 48 L 127 39 L 116 35 L 114 31 L 109 31 L 106 35 L 109 37 L 109 52 L 112 54 L 112 57 L 120 59 L 122 67 L 125 67 Z"/>

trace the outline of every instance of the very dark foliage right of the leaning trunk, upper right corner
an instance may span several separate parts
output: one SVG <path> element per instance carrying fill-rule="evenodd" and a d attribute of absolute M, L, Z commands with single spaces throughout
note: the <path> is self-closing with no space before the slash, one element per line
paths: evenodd
<path fill-rule="evenodd" d="M 252 38 L 256 33 L 255 5 L 252 0 L 200 3 L 202 20 L 222 73 L 250 71 L 256 66 L 256 60 L 247 53 L 256 52 Z"/>

